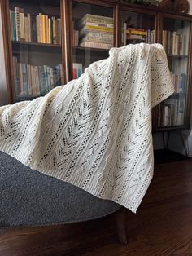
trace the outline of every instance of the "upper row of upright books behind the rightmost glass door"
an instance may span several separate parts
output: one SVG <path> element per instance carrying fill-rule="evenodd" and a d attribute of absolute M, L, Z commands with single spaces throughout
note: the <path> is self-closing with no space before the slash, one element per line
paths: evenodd
<path fill-rule="evenodd" d="M 185 35 L 163 30 L 163 46 L 169 55 L 185 55 Z"/>

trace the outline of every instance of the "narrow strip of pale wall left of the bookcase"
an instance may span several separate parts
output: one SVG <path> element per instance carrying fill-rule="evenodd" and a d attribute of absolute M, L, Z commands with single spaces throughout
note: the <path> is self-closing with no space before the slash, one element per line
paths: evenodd
<path fill-rule="evenodd" d="M 6 70 L 4 60 L 4 49 L 2 40 L 2 17 L 0 6 L 0 106 L 7 104 Z"/>

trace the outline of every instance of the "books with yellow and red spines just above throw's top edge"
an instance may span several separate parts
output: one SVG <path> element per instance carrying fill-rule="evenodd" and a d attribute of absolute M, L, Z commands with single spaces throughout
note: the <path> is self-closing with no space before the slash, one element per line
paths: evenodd
<path fill-rule="evenodd" d="M 122 42 L 125 45 L 129 43 L 155 43 L 155 29 L 138 29 L 129 28 L 126 23 L 124 23 Z"/>

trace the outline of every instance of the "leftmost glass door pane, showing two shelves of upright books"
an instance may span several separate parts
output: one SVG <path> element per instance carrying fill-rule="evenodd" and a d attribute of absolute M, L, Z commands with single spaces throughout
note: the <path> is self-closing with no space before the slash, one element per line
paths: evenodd
<path fill-rule="evenodd" d="M 63 80 L 59 1 L 10 1 L 15 101 L 46 95 Z"/>

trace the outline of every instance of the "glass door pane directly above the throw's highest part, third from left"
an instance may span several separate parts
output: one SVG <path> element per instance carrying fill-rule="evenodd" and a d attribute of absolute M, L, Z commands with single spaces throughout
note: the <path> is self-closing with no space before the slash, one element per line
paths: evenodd
<path fill-rule="evenodd" d="M 122 46 L 130 43 L 155 42 L 155 15 L 123 11 L 121 28 Z"/>

